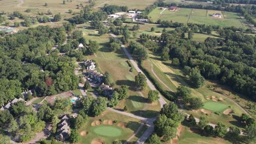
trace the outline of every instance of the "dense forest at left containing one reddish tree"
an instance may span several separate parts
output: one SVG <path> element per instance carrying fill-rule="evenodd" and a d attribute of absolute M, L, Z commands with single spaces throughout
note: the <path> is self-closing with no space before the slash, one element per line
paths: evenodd
<path fill-rule="evenodd" d="M 41 97 L 77 88 L 75 58 L 52 47 L 66 40 L 64 27 L 38 26 L 0 38 L 0 104 L 22 97 L 27 89 Z"/>

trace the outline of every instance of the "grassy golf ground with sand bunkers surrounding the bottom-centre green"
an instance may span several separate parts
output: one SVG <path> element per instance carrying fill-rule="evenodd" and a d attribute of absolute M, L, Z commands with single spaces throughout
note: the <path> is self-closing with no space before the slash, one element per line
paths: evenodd
<path fill-rule="evenodd" d="M 113 123 L 113 121 L 117 122 Z M 114 140 L 127 140 L 140 125 L 141 122 L 138 119 L 104 111 L 101 116 L 90 117 L 88 122 L 79 129 L 81 134 L 86 131 L 81 136 L 80 143 L 91 143 L 95 140 L 101 140 L 104 143 L 112 143 Z"/>

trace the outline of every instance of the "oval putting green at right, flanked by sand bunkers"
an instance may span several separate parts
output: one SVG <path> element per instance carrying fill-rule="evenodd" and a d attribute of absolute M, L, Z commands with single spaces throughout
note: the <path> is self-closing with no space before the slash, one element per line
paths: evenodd
<path fill-rule="evenodd" d="M 223 112 L 224 110 L 228 109 L 228 106 L 215 101 L 207 101 L 205 104 L 203 104 L 203 109 L 214 112 Z"/>

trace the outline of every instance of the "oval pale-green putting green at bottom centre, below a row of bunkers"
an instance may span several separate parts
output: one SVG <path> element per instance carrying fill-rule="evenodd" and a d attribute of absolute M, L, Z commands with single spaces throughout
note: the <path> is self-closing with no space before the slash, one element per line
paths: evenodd
<path fill-rule="evenodd" d="M 101 125 L 101 126 L 95 127 L 92 131 L 94 131 L 94 133 L 97 135 L 107 136 L 107 137 L 118 137 L 122 135 L 122 130 L 120 130 L 117 127 L 112 127 L 107 125 Z"/>

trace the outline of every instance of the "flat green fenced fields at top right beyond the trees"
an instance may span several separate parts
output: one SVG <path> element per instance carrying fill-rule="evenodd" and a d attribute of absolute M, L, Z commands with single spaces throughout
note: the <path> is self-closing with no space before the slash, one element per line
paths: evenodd
<path fill-rule="evenodd" d="M 205 10 L 205 9 L 189 9 L 179 8 L 177 11 L 165 10 L 160 14 L 160 7 L 155 8 L 148 16 L 153 21 L 168 20 L 182 23 L 199 23 L 205 25 L 219 25 L 222 27 L 235 26 L 245 27 L 243 21 L 237 13 L 222 12 L 219 10 Z M 221 13 L 222 18 L 212 17 L 210 15 Z M 223 16 L 224 14 L 224 16 Z"/>

